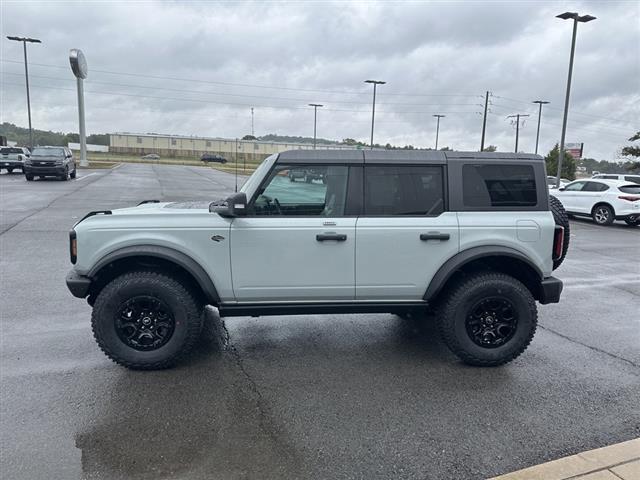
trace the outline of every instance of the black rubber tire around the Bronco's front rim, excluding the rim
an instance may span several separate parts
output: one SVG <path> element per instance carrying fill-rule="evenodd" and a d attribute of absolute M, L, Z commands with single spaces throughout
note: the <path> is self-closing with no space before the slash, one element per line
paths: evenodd
<path fill-rule="evenodd" d="M 136 295 L 160 299 L 173 315 L 173 334 L 155 350 L 136 350 L 116 331 L 118 309 Z M 115 278 L 98 294 L 91 328 L 100 349 L 115 363 L 134 370 L 159 370 L 175 365 L 191 350 L 202 329 L 202 310 L 193 293 L 176 279 L 158 272 L 134 271 Z"/>

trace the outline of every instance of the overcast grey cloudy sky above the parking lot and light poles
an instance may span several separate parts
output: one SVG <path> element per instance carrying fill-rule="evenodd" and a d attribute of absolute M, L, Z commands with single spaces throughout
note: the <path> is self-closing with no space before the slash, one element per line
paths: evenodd
<path fill-rule="evenodd" d="M 558 140 L 571 23 L 580 24 L 567 142 L 615 159 L 640 129 L 640 2 L 0 2 L 1 121 L 27 125 L 21 45 L 29 47 L 34 128 L 77 131 L 70 48 L 84 51 L 87 131 L 214 137 L 313 135 L 477 150 L 489 90 L 487 144 L 514 148 L 512 114 L 529 114 L 519 150 Z"/>

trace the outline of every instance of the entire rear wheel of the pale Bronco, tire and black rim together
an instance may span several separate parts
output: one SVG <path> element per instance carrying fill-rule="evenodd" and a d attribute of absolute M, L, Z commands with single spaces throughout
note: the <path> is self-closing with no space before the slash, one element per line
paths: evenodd
<path fill-rule="evenodd" d="M 531 292 L 503 273 L 478 273 L 457 283 L 437 314 L 440 334 L 464 363 L 503 365 L 526 350 L 538 324 Z"/>

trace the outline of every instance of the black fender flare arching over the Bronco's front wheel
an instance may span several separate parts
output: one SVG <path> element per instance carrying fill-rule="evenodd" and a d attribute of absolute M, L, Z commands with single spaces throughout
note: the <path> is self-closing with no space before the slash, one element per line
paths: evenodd
<path fill-rule="evenodd" d="M 170 247 L 163 247 L 159 245 L 134 245 L 114 250 L 96 262 L 96 264 L 87 273 L 87 276 L 89 278 L 95 278 L 102 268 L 114 261 L 128 257 L 140 256 L 156 257 L 178 265 L 194 278 L 204 292 L 208 302 L 213 305 L 218 305 L 220 303 L 220 296 L 213 284 L 213 280 L 211 280 L 211 277 L 207 274 L 204 268 L 202 268 L 202 266 L 190 256 Z"/>

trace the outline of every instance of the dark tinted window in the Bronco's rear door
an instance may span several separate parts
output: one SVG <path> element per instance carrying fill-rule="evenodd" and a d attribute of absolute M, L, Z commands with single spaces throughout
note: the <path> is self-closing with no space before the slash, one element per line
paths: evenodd
<path fill-rule="evenodd" d="M 365 166 L 365 215 L 438 216 L 443 211 L 442 167 Z"/>

